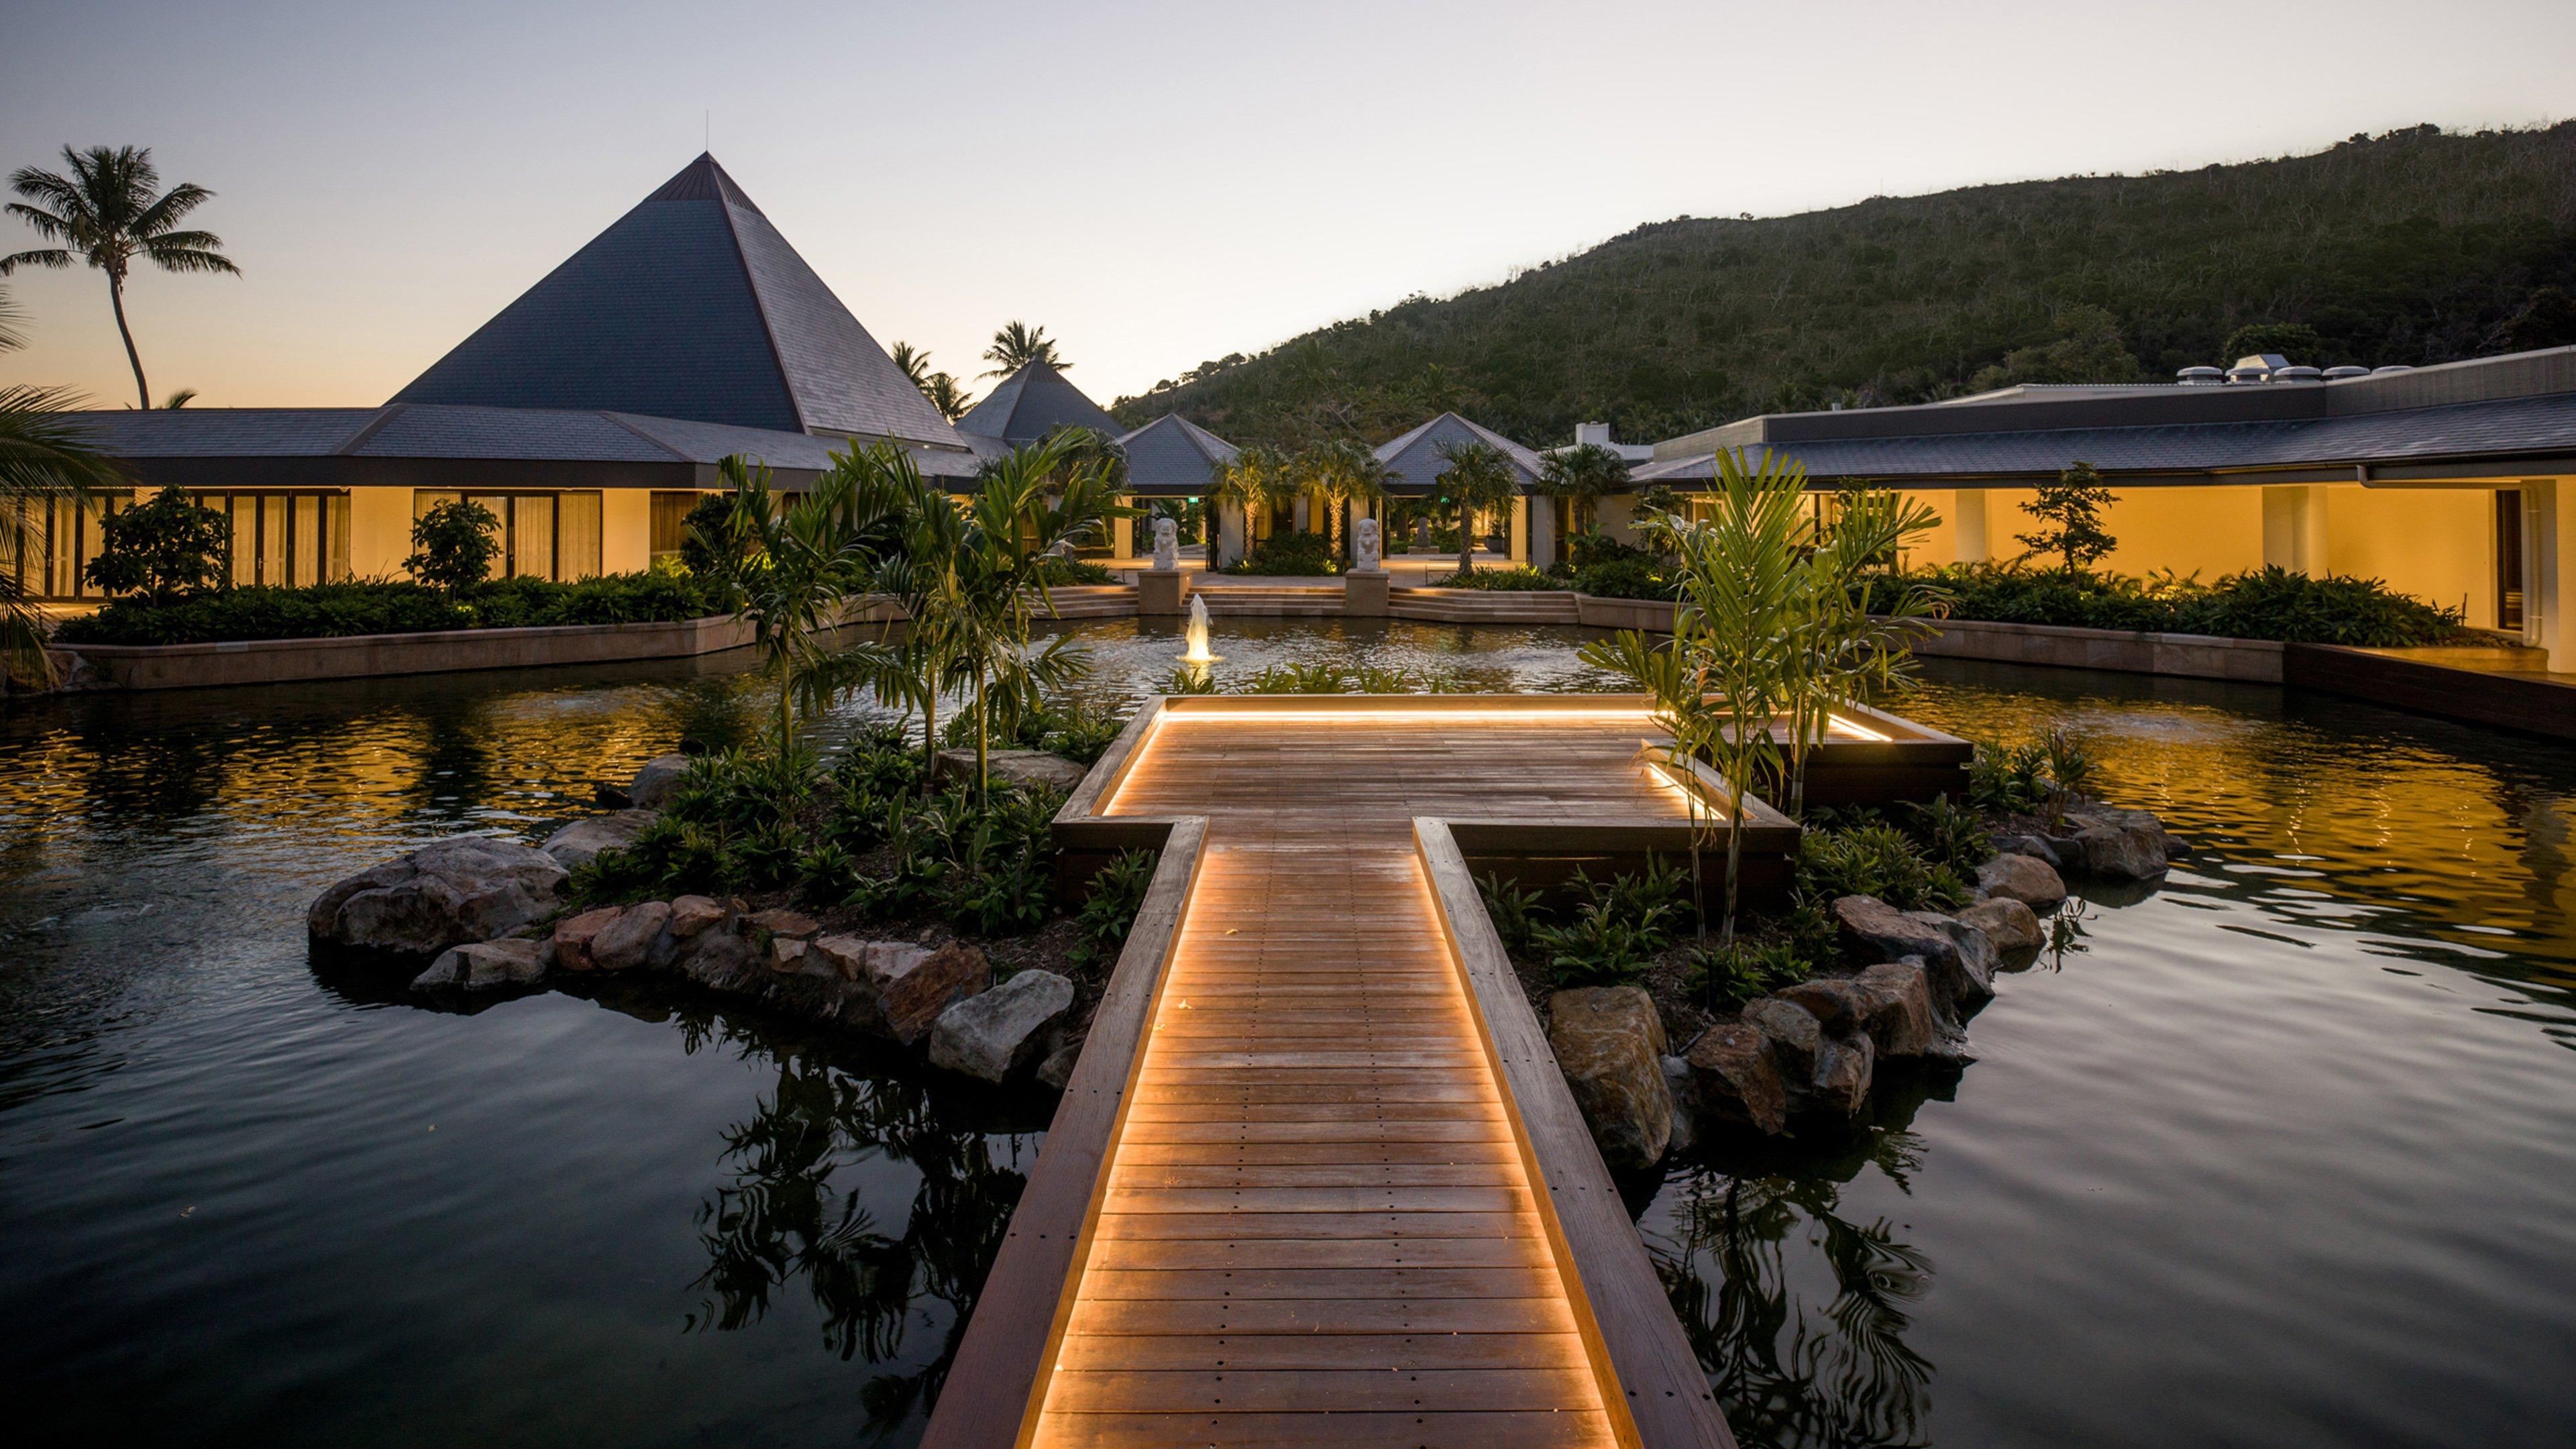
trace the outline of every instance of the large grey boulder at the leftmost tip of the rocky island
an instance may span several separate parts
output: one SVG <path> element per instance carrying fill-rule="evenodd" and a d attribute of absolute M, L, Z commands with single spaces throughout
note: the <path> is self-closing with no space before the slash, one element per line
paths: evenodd
<path fill-rule="evenodd" d="M 564 866 L 489 835 L 451 835 L 358 871 L 307 915 L 314 941 L 404 957 L 492 941 L 554 913 Z"/>

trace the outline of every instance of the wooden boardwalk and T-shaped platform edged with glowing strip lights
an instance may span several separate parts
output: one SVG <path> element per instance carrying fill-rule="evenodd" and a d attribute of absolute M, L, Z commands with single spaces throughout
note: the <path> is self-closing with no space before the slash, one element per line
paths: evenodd
<path fill-rule="evenodd" d="M 1517 1036 L 1492 1021 L 1528 1018 L 1517 985 L 1504 1000 L 1466 969 L 1455 897 L 1492 928 L 1463 861 L 1443 846 L 1445 905 L 1417 838 L 1417 820 L 1497 815 L 1685 825 L 1641 712 L 1319 704 L 1159 712 L 1077 799 L 1103 825 L 1203 817 L 1203 838 L 1133 1047 L 1095 1026 L 1084 1049 L 1077 1093 L 1110 1075 L 1095 1055 L 1131 1060 L 1079 1235 L 1005 1245 L 925 1444 L 1726 1444 L 1535 1018 Z M 1569 1245 L 1569 1194 L 1625 1258 Z M 1072 1222 L 1030 1212 L 1033 1232 Z M 1584 1261 L 1623 1279 L 1607 1310 Z M 1061 1263 L 1061 1297 L 1043 1346 L 1033 1325 L 989 1330 L 1036 1356 L 1012 1369 L 981 1320 L 1033 1312 L 1041 1294 L 999 1279 L 1036 1263 Z M 1618 1361 L 1638 1341 L 1646 1377 L 1677 1382 L 1654 1392 L 1698 1403 L 1638 1413 Z M 953 1410 L 1023 1385 L 1007 1415 Z"/>

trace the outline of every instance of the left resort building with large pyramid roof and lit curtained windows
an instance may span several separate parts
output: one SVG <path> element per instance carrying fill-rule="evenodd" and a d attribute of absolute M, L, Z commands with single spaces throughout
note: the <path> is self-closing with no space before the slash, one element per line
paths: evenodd
<path fill-rule="evenodd" d="M 631 572 L 677 549 L 732 454 L 781 487 L 853 441 L 961 482 L 987 456 L 711 155 L 381 407 L 77 418 L 144 490 L 178 485 L 232 518 L 234 583 L 399 575 L 412 518 L 448 498 L 500 518 L 502 575 Z M 33 523 L 33 593 L 95 598 L 80 580 L 95 516 L 57 503 Z"/>

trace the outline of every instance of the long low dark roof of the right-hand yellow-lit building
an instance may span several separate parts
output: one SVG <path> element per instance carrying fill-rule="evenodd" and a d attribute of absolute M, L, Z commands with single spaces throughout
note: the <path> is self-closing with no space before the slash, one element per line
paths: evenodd
<path fill-rule="evenodd" d="M 2223 474 L 2259 469 L 2411 467 L 2470 459 L 2576 454 L 2576 392 L 2298 418 L 2267 423 L 2166 423 L 2148 428 L 2027 428 L 1893 438 L 1741 443 L 1798 459 L 1811 480 L 1989 480 L 2053 477 L 2074 462 L 2107 474 Z M 1636 482 L 1716 477 L 1716 454 L 1638 467 Z"/>

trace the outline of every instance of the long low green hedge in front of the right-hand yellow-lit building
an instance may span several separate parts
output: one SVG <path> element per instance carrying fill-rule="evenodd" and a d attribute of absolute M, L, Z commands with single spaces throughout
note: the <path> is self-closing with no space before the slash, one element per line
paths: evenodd
<path fill-rule="evenodd" d="M 2097 575 L 2014 565 L 1953 565 L 1909 575 L 1950 596 L 1953 619 L 2061 624 L 2161 634 L 2218 634 L 2298 645 L 2409 647 L 2476 639 L 2458 608 L 2437 608 L 2375 578 L 2308 578 L 2282 567 L 2218 583 Z"/>

